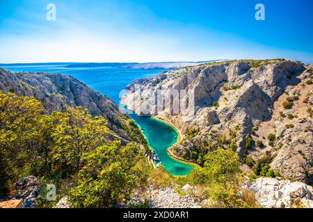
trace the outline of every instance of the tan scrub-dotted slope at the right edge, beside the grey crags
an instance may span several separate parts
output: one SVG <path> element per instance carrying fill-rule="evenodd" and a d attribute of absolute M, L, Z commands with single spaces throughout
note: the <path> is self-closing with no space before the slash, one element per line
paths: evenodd
<path fill-rule="evenodd" d="M 271 167 L 284 178 L 309 184 L 313 183 L 312 70 L 309 68 L 300 74 L 301 83 L 287 87 L 273 103 L 271 119 L 260 123 L 252 135 L 256 141 L 262 141 L 263 146 L 249 154 L 257 160 L 270 153 L 275 156 Z M 267 138 L 270 133 L 275 135 L 272 142 Z"/>

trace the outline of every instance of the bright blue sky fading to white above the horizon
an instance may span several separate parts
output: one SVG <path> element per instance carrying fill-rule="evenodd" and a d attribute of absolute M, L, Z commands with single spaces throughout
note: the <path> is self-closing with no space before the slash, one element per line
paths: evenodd
<path fill-rule="evenodd" d="M 47 20 L 47 5 L 56 20 Z M 265 20 L 255 19 L 257 3 Z M 0 63 L 313 63 L 312 0 L 0 0 Z"/>

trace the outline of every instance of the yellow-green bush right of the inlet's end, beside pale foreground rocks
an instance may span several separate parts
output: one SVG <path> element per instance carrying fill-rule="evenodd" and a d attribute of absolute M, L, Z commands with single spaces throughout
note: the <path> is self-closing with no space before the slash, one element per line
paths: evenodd
<path fill-rule="evenodd" d="M 193 171 L 188 182 L 206 187 L 207 207 L 257 207 L 254 194 L 241 189 L 241 162 L 234 151 L 218 148 L 204 159 L 204 167 Z"/>

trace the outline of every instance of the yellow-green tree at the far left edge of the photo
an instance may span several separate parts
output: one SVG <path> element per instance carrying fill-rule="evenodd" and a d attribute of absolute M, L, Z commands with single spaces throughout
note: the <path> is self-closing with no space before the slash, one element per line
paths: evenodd
<path fill-rule="evenodd" d="M 42 113 L 39 101 L 29 96 L 0 92 L 0 193 L 6 194 L 20 169 L 29 169 Z"/>

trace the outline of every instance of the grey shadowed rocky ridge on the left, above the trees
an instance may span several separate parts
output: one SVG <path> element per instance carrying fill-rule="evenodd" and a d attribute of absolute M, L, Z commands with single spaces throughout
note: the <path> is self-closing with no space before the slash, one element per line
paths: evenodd
<path fill-rule="evenodd" d="M 122 115 L 111 99 L 90 89 L 76 78 L 61 74 L 12 73 L 0 69 L 0 90 L 22 96 L 34 96 L 42 102 L 45 112 L 65 111 L 67 105 L 88 108 L 93 116 L 108 119 L 111 135 L 129 141 L 129 135 L 122 127 L 127 116 Z"/>

